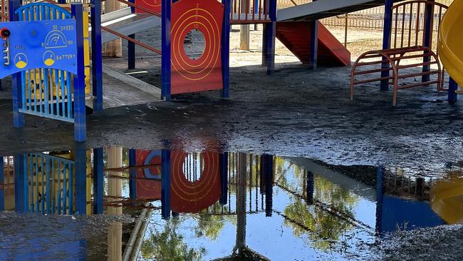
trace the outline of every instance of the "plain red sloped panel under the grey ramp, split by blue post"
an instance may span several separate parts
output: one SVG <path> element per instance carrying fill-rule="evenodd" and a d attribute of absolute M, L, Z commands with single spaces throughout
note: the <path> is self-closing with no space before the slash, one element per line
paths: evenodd
<path fill-rule="evenodd" d="M 302 63 L 310 62 L 311 23 L 313 22 L 294 21 L 276 24 L 276 37 Z M 321 23 L 318 23 L 318 65 L 350 65 L 350 52 Z"/>

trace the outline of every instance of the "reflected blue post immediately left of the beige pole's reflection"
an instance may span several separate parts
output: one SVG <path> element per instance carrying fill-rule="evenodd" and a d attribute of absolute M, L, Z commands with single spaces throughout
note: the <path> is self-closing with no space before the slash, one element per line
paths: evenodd
<path fill-rule="evenodd" d="M 93 214 L 103 213 L 103 148 L 93 149 Z"/>

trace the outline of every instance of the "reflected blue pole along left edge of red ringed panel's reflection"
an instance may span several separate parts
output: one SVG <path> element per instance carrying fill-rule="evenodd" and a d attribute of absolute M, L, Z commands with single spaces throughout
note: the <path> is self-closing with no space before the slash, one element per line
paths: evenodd
<path fill-rule="evenodd" d="M 161 151 L 161 215 L 170 218 L 170 150 Z"/>

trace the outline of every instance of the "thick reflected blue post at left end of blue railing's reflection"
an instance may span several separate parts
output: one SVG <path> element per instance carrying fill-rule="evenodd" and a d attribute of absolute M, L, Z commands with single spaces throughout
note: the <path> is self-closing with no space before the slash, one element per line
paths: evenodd
<path fill-rule="evenodd" d="M 14 156 L 14 210 L 27 212 L 28 210 L 28 180 L 26 173 L 27 159 L 25 155 Z"/>

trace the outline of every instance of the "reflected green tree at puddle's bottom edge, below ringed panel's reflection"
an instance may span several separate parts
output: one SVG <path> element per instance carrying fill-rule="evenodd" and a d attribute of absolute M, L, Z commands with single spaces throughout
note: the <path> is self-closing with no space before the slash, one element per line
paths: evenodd
<path fill-rule="evenodd" d="M 151 230 L 148 239 L 143 240 L 141 255 L 147 260 L 202 260 L 206 252 L 204 247 L 194 249 L 183 242 L 183 236 L 177 234 L 180 224 L 178 218 L 165 221 L 164 231 Z"/>

